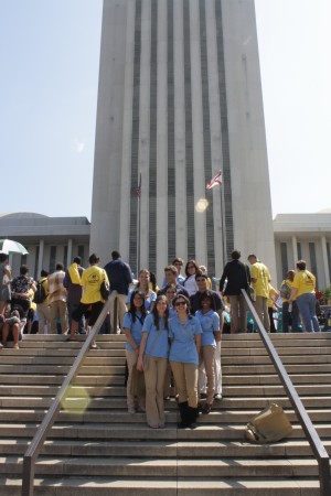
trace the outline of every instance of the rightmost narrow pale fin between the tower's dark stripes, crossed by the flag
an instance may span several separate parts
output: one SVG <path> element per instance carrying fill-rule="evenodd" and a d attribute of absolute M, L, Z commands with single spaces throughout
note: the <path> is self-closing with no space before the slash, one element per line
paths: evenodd
<path fill-rule="evenodd" d="M 223 169 L 222 160 L 222 132 L 221 132 L 221 107 L 218 91 L 218 68 L 217 68 L 217 46 L 216 46 L 216 21 L 215 21 L 215 0 L 205 2 L 206 18 L 206 48 L 209 67 L 209 96 L 210 96 L 210 126 L 211 126 L 211 154 L 213 175 Z M 225 225 L 222 214 L 223 186 L 214 187 L 213 194 L 213 214 L 214 214 L 214 247 L 215 247 L 215 271 L 221 274 L 225 265 L 222 247 L 225 245 Z"/>

